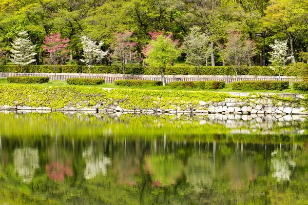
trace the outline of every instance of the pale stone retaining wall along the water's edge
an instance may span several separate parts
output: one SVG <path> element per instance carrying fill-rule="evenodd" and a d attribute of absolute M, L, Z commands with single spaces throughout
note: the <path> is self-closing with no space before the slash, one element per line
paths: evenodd
<path fill-rule="evenodd" d="M 204 93 L 206 94 L 206 93 Z M 306 110 L 306 105 L 304 95 L 298 94 L 249 94 L 249 93 L 228 93 L 229 96 L 223 101 L 213 102 L 213 101 L 202 101 L 198 99 L 198 103 L 192 105 L 191 107 L 186 106 L 184 110 L 180 109 L 180 106 L 174 105 L 176 109 L 161 109 L 159 107 L 146 108 L 146 109 L 123 109 L 119 106 L 117 102 L 108 105 L 107 107 L 102 104 L 97 104 L 91 108 L 76 108 L 65 106 L 61 109 L 52 109 L 49 107 L 29 107 L 29 106 L 0 106 L 0 110 L 36 110 L 36 111 L 87 111 L 87 112 L 107 112 L 107 113 L 203 113 L 203 114 L 271 114 L 271 115 L 288 115 L 288 114 L 301 114 L 306 115 L 308 111 Z M 104 108 L 102 108 L 104 106 Z"/>

